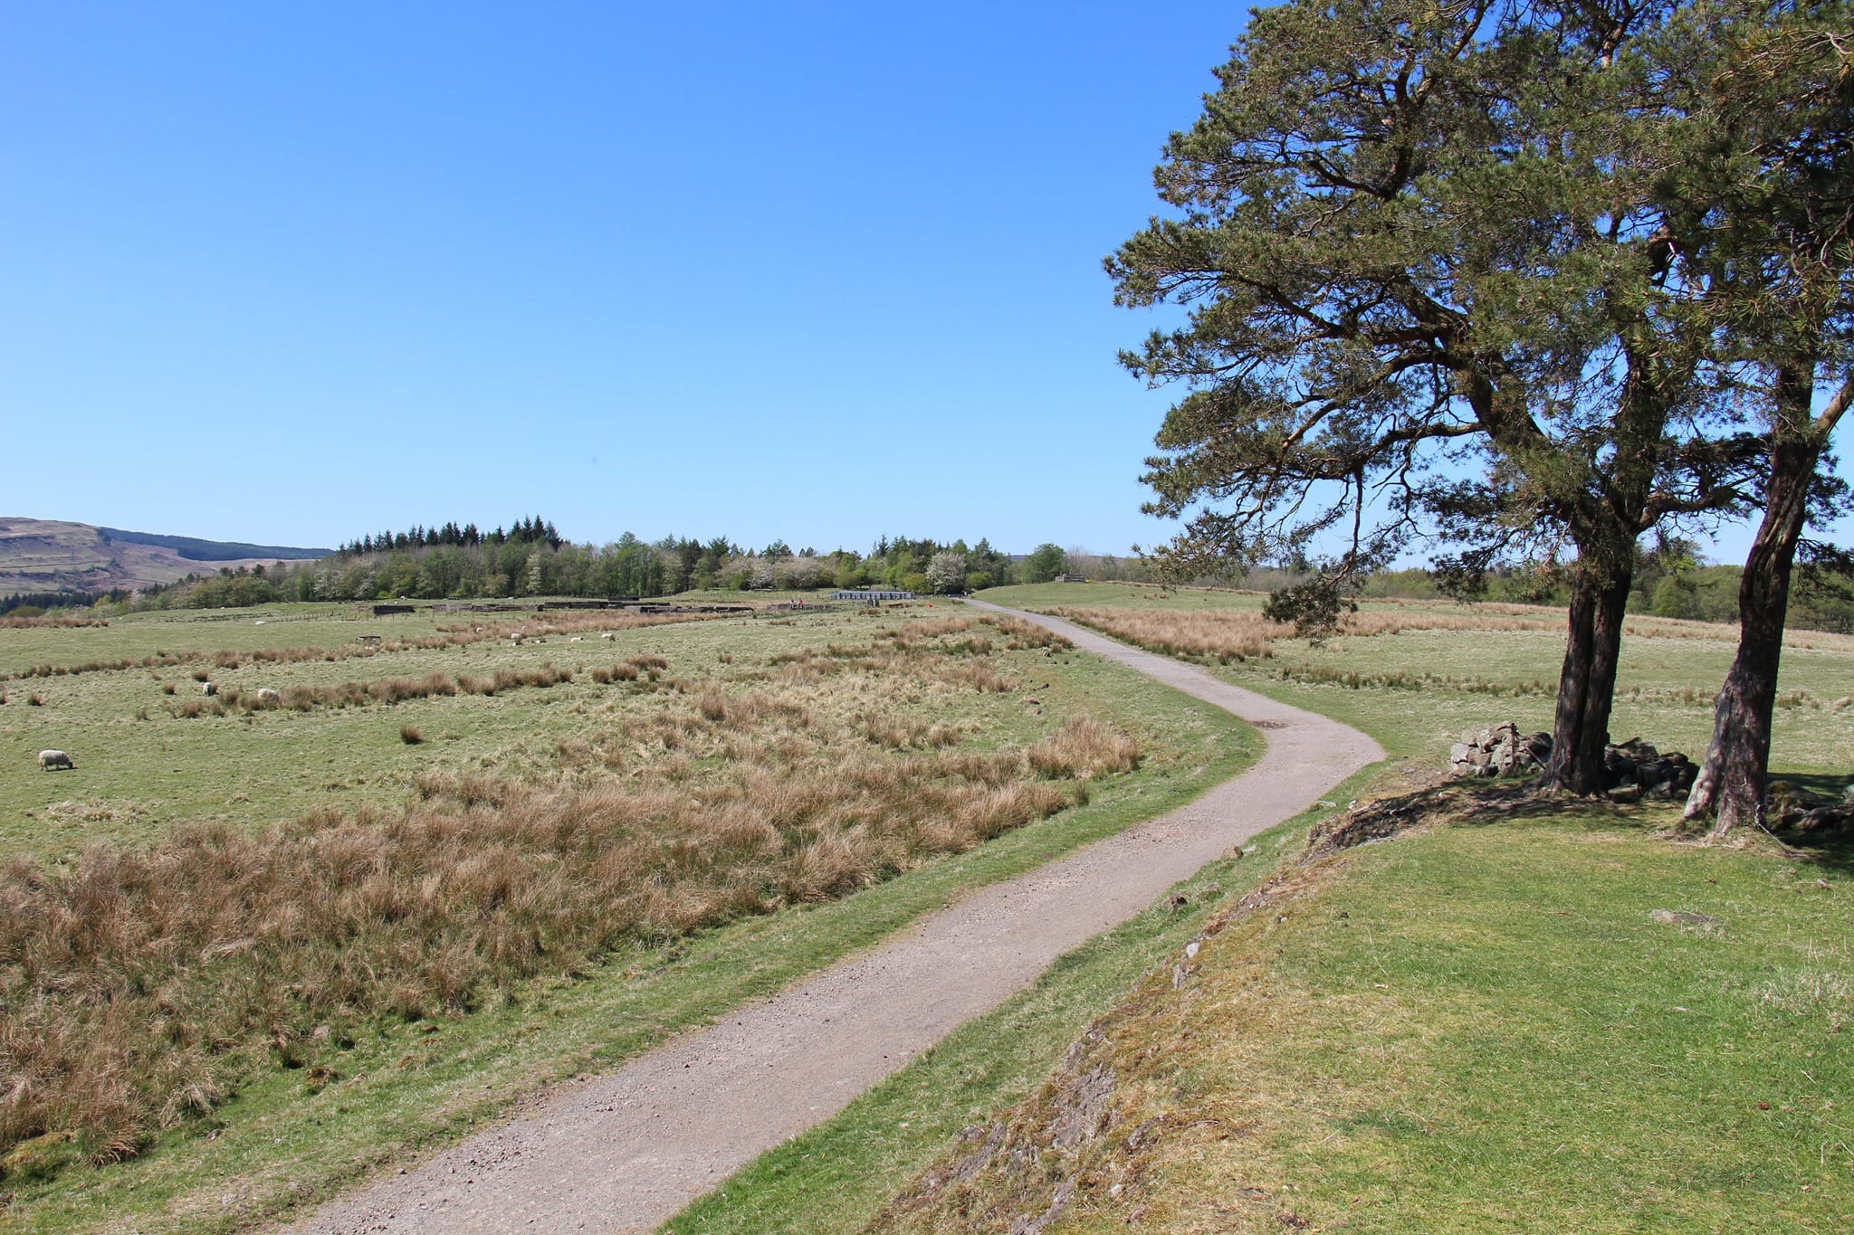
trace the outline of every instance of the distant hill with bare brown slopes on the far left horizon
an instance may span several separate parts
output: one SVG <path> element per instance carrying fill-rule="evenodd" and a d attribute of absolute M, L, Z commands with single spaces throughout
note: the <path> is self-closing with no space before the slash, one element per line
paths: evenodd
<path fill-rule="evenodd" d="M 172 583 L 219 567 L 326 557 L 324 548 L 200 541 L 197 537 L 93 528 L 52 518 L 0 517 L 0 596 L 15 593 L 106 593 Z"/>

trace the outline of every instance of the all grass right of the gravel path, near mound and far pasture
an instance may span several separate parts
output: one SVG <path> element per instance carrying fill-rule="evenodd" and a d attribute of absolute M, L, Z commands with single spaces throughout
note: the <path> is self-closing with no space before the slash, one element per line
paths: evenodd
<path fill-rule="evenodd" d="M 984 598 L 1187 618 L 1155 644 L 1205 615 L 1253 635 L 1261 607 L 1120 585 Z M 1556 678 L 1559 613 L 1365 617 L 1396 633 L 1188 659 L 1374 733 L 1392 761 L 1335 800 L 1405 789 L 1463 728 L 1548 728 L 1531 681 Z M 1619 722 L 1698 752 L 1733 639 L 1632 622 Z M 1824 792 L 1854 780 L 1854 715 L 1834 707 L 1850 668 L 1854 641 L 1785 650 L 1776 765 Z M 1155 909 L 1077 950 L 666 1229 L 1845 1229 L 1854 852 L 1674 842 L 1672 805 L 1518 807 L 1444 811 L 1311 870 L 1292 861 L 1316 815 L 1285 824 L 1259 861 L 1183 889 L 1185 920 Z M 1237 915 L 1274 874 L 1277 904 Z"/>

